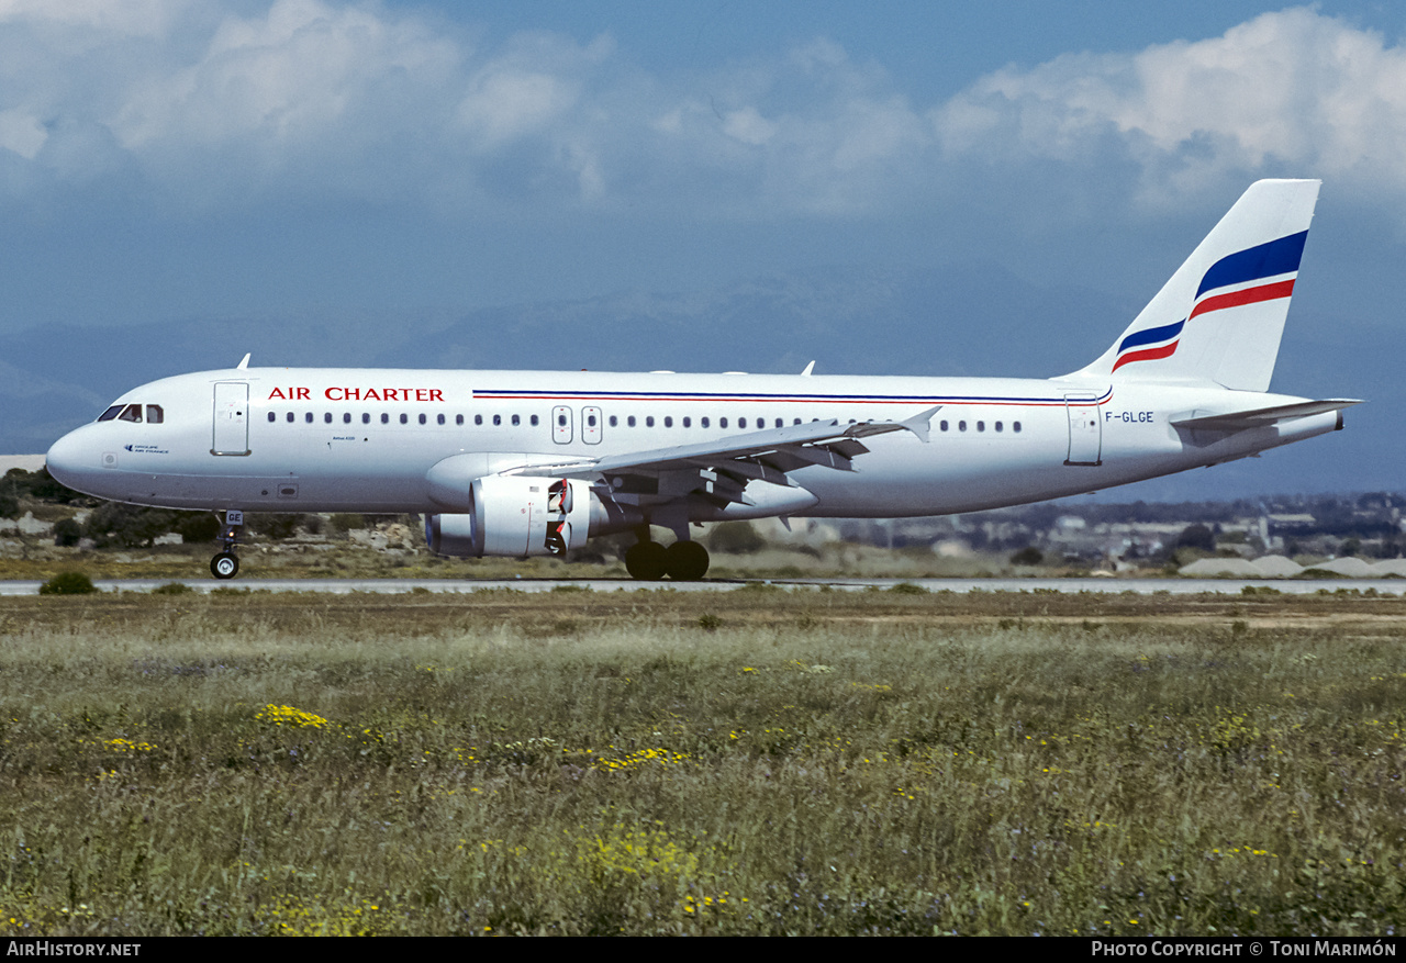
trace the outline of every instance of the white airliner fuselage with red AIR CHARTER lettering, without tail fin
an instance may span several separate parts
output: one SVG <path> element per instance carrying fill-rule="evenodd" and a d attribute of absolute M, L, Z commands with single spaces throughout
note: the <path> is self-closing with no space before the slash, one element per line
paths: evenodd
<path fill-rule="evenodd" d="M 247 391 L 247 396 L 245 396 Z M 815 419 L 904 420 L 855 471 L 801 468 L 797 516 L 898 517 L 1018 505 L 1246 457 L 1340 426 L 1337 412 L 1233 433 L 1173 419 L 1302 399 L 1078 380 L 250 368 L 155 381 L 115 405 L 160 422 L 84 425 L 49 471 L 100 498 L 247 512 L 444 512 L 426 474 L 481 453 L 498 471 L 710 441 Z M 754 515 L 778 513 L 758 508 Z M 745 510 L 737 517 L 745 517 Z"/>

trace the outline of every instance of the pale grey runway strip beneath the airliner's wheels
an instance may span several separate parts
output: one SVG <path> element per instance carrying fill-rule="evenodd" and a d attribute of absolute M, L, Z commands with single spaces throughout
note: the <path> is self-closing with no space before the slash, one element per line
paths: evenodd
<path fill-rule="evenodd" d="M 101 592 L 150 592 L 152 589 L 180 582 L 194 592 L 314 592 L 325 595 L 352 595 L 354 592 L 378 595 L 408 595 L 416 590 L 436 593 L 474 592 L 735 592 L 742 588 L 769 585 L 796 592 L 818 592 L 828 588 L 832 592 L 887 590 L 896 585 L 917 585 L 928 592 L 1060 592 L 1078 595 L 1240 595 L 1246 586 L 1270 588 L 1284 595 L 1316 595 L 1319 592 L 1375 592 L 1376 595 L 1406 595 L 1406 579 L 1119 579 L 1119 578 L 1033 578 L 1033 579 L 717 579 L 702 582 L 636 582 L 633 579 L 96 579 L 93 583 Z M 0 581 L 0 596 L 38 595 L 42 581 L 15 579 Z"/>

